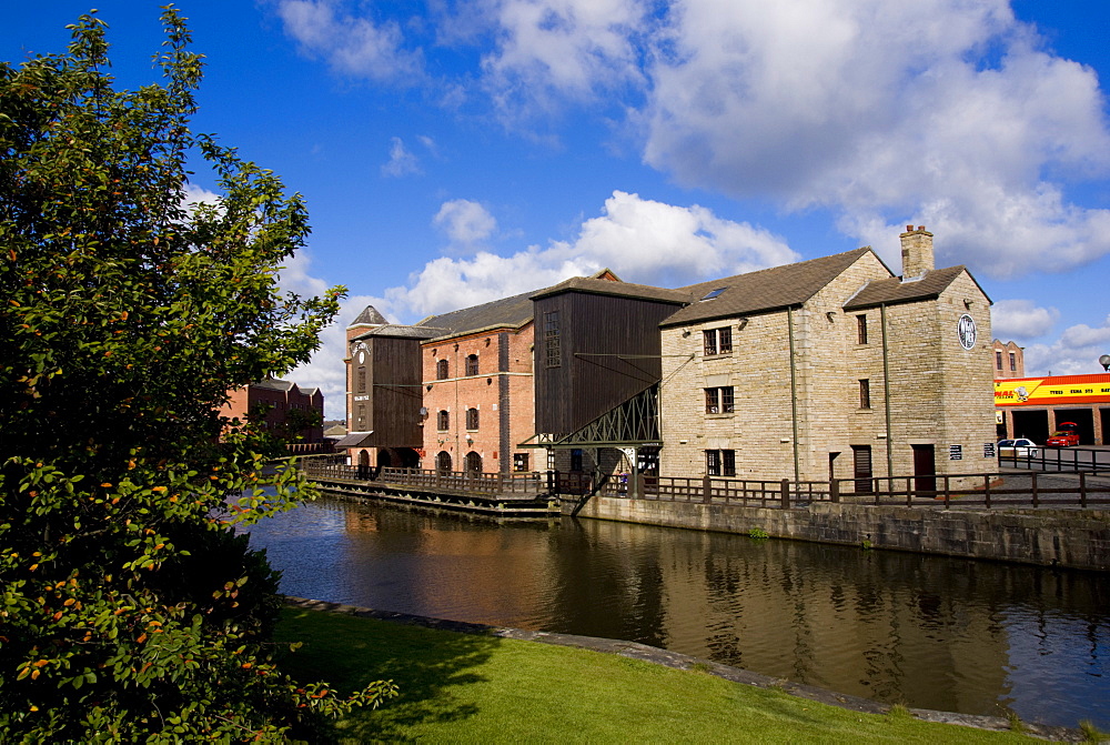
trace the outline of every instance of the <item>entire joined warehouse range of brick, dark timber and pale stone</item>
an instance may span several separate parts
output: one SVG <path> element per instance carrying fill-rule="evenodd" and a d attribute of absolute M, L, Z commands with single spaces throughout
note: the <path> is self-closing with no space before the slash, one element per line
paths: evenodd
<path fill-rule="evenodd" d="M 415 430 L 390 442 L 407 437 L 423 467 L 928 489 L 995 467 L 990 300 L 965 268 L 934 268 L 924 228 L 901 241 L 900 276 L 869 248 L 674 290 L 605 271 L 360 329 L 352 355 L 408 334 L 389 369 L 418 393 L 402 419 L 421 412 L 422 444 Z M 376 401 L 351 380 L 352 404 Z M 360 421 L 359 457 L 393 446 L 377 413 Z"/>

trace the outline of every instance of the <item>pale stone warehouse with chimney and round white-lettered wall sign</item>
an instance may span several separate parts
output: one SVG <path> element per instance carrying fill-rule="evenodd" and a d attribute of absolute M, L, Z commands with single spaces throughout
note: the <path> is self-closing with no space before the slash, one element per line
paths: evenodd
<path fill-rule="evenodd" d="M 662 324 L 660 472 L 749 479 L 995 469 L 990 300 L 932 234 L 689 288 Z M 699 395 L 700 394 L 700 395 Z"/>

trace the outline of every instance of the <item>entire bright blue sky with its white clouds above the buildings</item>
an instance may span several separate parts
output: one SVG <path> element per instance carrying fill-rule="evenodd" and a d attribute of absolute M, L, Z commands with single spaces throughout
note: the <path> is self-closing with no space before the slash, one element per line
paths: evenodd
<path fill-rule="evenodd" d="M 0 58 L 88 3 L 8 3 Z M 155 79 L 158 2 L 104 0 L 114 73 Z M 1110 3 L 1096 0 L 181 2 L 196 131 L 307 200 L 297 291 L 345 284 L 291 377 L 342 414 L 342 325 L 612 268 L 677 286 L 926 225 L 1030 374 L 1110 352 Z M 214 180 L 199 173 L 196 193 Z"/>

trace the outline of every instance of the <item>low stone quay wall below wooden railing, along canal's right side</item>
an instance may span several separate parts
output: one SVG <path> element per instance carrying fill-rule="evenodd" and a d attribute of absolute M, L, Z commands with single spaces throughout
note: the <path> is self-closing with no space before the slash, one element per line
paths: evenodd
<path fill-rule="evenodd" d="M 573 501 L 563 503 L 569 513 Z M 813 503 L 777 510 L 594 496 L 579 517 L 775 538 L 836 543 L 1110 571 L 1110 513 L 1079 510 L 965 511 Z"/>

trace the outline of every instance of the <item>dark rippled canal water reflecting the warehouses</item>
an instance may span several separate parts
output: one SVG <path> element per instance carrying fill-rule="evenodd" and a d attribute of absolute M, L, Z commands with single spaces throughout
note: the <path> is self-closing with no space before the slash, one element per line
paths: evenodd
<path fill-rule="evenodd" d="M 630 640 L 911 707 L 1110 729 L 1110 577 L 322 500 L 251 528 L 281 588 Z"/>

